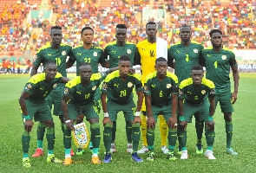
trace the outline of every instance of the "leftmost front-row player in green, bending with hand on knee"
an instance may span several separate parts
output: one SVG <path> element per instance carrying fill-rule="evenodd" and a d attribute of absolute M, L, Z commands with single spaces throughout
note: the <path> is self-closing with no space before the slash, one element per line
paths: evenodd
<path fill-rule="evenodd" d="M 30 131 L 34 125 L 33 119 L 42 122 L 47 127 L 47 162 L 62 163 L 62 160 L 54 155 L 55 127 L 45 98 L 58 83 L 67 83 L 68 81 L 68 78 L 62 77 L 62 74 L 57 73 L 56 63 L 54 61 L 48 61 L 45 63 L 44 73 L 32 76 L 24 86 L 23 93 L 19 99 L 24 125 L 22 135 L 23 167 L 31 167 L 29 149 Z"/>

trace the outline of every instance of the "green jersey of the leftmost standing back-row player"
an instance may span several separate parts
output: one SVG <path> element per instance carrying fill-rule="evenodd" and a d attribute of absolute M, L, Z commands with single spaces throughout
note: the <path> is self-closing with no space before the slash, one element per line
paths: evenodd
<path fill-rule="evenodd" d="M 67 56 L 73 57 L 72 47 L 61 43 L 61 47 L 58 49 L 51 48 L 50 43 L 39 48 L 38 52 L 36 53 L 36 59 L 34 60 L 33 64 L 37 67 L 43 63 L 43 67 L 48 61 L 55 61 L 56 66 L 58 68 L 58 72 L 62 74 L 62 76 L 67 77 L 66 71 L 66 59 Z"/>

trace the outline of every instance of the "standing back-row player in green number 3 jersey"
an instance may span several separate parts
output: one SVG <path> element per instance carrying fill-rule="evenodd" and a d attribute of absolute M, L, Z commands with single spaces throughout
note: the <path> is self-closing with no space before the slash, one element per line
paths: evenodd
<path fill-rule="evenodd" d="M 174 68 L 174 74 L 177 75 L 179 82 L 190 77 L 191 68 L 194 65 L 199 64 L 200 53 L 204 48 L 200 43 L 192 41 L 190 39 L 191 35 L 192 33 L 190 26 L 187 24 L 182 25 L 180 28 L 181 41 L 176 42 L 173 46 L 168 48 L 168 60 L 170 62 L 169 66 Z M 194 118 L 197 134 L 195 151 L 197 154 L 203 154 L 201 138 L 204 131 L 204 123 L 199 120 L 199 115 L 194 115 Z M 178 153 L 181 154 L 181 145 L 179 145 Z"/>

